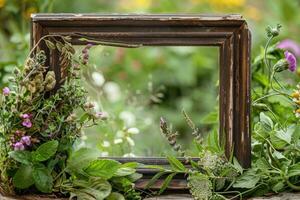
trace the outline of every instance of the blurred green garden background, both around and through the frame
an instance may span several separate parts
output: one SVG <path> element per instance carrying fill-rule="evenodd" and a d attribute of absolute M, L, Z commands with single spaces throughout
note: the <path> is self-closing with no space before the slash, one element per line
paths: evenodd
<path fill-rule="evenodd" d="M 265 27 L 281 23 L 280 39 L 300 42 L 300 0 L 0 0 L 0 85 L 29 52 L 31 13 L 238 13 L 252 31 L 252 55 L 260 53 Z M 82 47 L 78 47 L 78 51 Z M 164 116 L 191 147 L 184 109 L 203 133 L 218 127 L 218 49 L 213 47 L 93 47 L 83 86 L 108 123 L 88 129 L 79 145 L 103 156 L 163 156 L 171 152 L 159 133 Z M 138 134 L 137 134 L 138 133 Z"/>

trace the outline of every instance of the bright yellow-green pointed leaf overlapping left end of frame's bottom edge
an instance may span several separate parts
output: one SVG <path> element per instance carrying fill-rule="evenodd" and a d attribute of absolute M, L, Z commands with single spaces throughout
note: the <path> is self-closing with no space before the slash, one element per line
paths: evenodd
<path fill-rule="evenodd" d="M 84 170 L 90 176 L 110 179 L 117 172 L 121 164 L 115 160 L 101 159 L 95 160 Z"/>

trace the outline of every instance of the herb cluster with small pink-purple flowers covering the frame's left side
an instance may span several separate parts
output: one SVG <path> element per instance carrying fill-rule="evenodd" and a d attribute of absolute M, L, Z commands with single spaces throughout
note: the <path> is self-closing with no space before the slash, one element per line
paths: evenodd
<path fill-rule="evenodd" d="M 133 182 L 137 163 L 98 159 L 99 152 L 76 149 L 82 129 L 106 118 L 95 112 L 81 86 L 88 44 L 77 55 L 71 38 L 44 36 L 16 69 L 1 96 L 0 192 L 57 193 L 77 199 L 140 199 Z M 60 81 L 45 51 L 60 54 Z"/>

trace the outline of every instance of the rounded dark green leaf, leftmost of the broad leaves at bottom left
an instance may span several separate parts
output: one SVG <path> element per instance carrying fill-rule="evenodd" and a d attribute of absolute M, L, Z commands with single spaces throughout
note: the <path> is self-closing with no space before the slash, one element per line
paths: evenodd
<path fill-rule="evenodd" d="M 34 184 L 32 171 L 31 165 L 21 165 L 13 177 L 13 185 L 19 189 L 29 188 Z"/>

